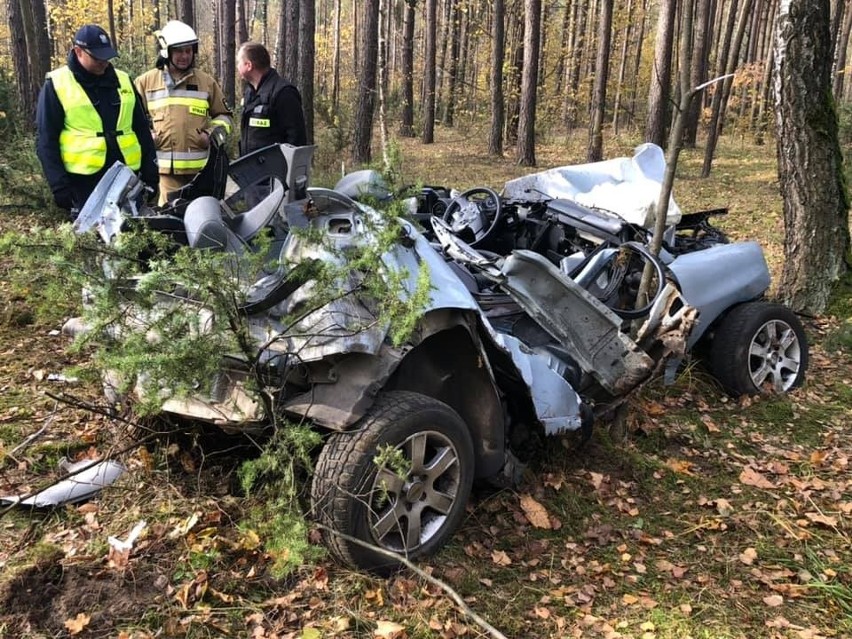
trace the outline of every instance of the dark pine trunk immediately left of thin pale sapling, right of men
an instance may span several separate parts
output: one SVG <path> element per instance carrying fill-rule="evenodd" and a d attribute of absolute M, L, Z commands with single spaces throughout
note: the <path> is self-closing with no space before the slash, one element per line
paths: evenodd
<path fill-rule="evenodd" d="M 366 0 L 361 22 L 361 68 L 358 72 L 358 102 L 352 161 L 369 164 L 372 159 L 373 114 L 376 105 L 376 73 L 379 53 L 379 0 Z"/>

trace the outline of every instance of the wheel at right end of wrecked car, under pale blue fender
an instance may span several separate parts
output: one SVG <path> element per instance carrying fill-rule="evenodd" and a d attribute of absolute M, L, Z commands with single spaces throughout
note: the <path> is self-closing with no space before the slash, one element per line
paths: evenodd
<path fill-rule="evenodd" d="M 734 397 L 781 394 L 805 379 L 808 342 L 786 306 L 747 302 L 730 310 L 715 331 L 710 368 Z"/>

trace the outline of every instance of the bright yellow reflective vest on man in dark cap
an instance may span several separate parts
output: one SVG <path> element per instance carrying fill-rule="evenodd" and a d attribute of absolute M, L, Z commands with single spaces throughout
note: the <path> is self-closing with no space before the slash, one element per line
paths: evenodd
<path fill-rule="evenodd" d="M 130 76 L 115 70 L 118 76 L 120 106 L 115 124 L 115 139 L 124 163 L 134 171 L 142 166 L 142 147 L 133 132 L 133 108 L 136 94 Z M 74 73 L 62 66 L 47 74 L 53 82 L 56 97 L 65 110 L 65 123 L 59 134 L 59 154 L 65 170 L 78 175 L 92 175 L 106 163 L 106 137 L 103 120 Z M 113 132 L 110 132 L 113 133 Z"/>

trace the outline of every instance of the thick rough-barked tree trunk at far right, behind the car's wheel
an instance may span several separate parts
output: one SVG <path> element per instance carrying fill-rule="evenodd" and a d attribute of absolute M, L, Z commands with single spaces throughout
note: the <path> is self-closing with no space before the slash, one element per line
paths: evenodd
<path fill-rule="evenodd" d="M 786 0 L 775 40 L 775 126 L 784 195 L 779 291 L 794 310 L 820 314 L 847 272 L 849 201 L 831 98 L 827 2 Z"/>

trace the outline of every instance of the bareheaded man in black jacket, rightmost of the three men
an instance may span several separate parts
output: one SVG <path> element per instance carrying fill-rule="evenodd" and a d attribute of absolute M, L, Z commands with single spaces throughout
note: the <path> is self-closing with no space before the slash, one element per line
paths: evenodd
<path fill-rule="evenodd" d="M 237 52 L 237 71 L 246 81 L 240 155 L 270 144 L 307 144 L 302 96 L 271 68 L 266 47 L 244 43 Z"/>

